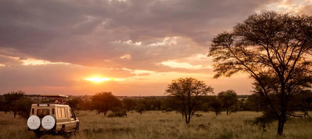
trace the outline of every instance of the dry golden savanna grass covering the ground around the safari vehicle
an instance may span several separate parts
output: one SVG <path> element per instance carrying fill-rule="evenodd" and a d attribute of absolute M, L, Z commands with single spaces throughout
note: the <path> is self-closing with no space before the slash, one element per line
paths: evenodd
<path fill-rule="evenodd" d="M 311 139 L 312 119 L 291 118 L 285 124 L 284 137 L 276 136 L 276 122 L 261 137 L 262 129 L 246 125 L 244 120 L 260 115 L 260 112 L 202 113 L 185 124 L 181 114 L 175 112 L 148 111 L 140 115 L 128 112 L 128 117 L 104 117 L 95 112 L 80 111 L 80 132 L 72 139 Z M 198 128 L 204 124 L 204 128 Z M 0 138 L 33 139 L 35 134 L 27 131 L 25 120 L 13 118 L 10 113 L 0 113 Z M 42 139 L 63 139 L 61 136 L 45 135 Z"/>

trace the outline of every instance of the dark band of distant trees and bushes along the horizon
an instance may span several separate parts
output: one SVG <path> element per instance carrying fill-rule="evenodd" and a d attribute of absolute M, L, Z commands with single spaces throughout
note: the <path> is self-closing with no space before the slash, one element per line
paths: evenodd
<path fill-rule="evenodd" d="M 309 111 L 312 110 L 312 92 L 308 90 L 300 94 L 294 96 L 296 101 L 293 101 L 290 106 L 294 111 L 299 111 L 303 114 L 294 113 L 293 116 L 310 117 Z M 14 117 L 20 115 L 22 118 L 28 118 L 30 116 L 31 105 L 41 102 L 41 99 L 34 101 L 28 96 L 23 91 L 13 91 L 1 95 L 0 105 L 2 107 L 0 107 L 0 111 L 12 113 Z M 234 90 L 226 90 L 217 94 L 198 96 L 196 99 L 196 104 L 190 106 L 192 107 L 191 112 L 186 112 L 186 108 L 182 105 L 183 102 L 177 96 L 118 99 L 112 92 L 99 92 L 90 99 L 73 97 L 67 103 L 75 111 L 95 111 L 98 114 L 102 113 L 104 116 L 108 116 L 108 113 L 112 116 L 124 116 L 129 111 L 135 111 L 140 114 L 146 111 L 176 112 L 180 113 L 182 117 L 186 116 L 188 123 L 188 117 L 197 115 L 200 112 L 214 112 L 218 116 L 222 112 L 228 115 L 238 111 L 263 112 L 266 109 L 264 103 L 265 98 L 256 93 L 249 95 L 245 99 L 238 98 Z M 189 102 L 184 104 L 187 103 Z"/>

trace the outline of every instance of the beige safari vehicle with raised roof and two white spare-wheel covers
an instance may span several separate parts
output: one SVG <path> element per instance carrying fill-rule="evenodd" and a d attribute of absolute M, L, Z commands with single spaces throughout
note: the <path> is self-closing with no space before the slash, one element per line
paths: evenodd
<path fill-rule="evenodd" d="M 54 102 L 68 96 L 65 95 L 40 95 L 42 103 L 32 104 L 31 114 L 27 120 L 27 126 L 34 131 L 36 137 L 44 134 L 63 135 L 69 138 L 69 133 L 79 131 L 80 120 L 76 118 L 73 109 L 67 103 Z M 49 102 L 44 102 L 43 97 L 48 97 Z M 52 98 L 52 99 L 51 99 Z M 50 102 L 50 101 L 53 102 Z"/>

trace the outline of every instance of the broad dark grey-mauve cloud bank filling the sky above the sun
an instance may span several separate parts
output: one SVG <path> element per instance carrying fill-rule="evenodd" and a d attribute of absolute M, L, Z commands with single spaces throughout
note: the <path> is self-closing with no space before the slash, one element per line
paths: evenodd
<path fill-rule="evenodd" d="M 213 35 L 269 2 L 2 0 L 0 50 L 52 62 L 157 69 L 162 61 L 206 53 Z M 180 36 L 176 44 L 149 46 L 174 36 Z M 128 40 L 133 43 L 115 42 Z M 124 54 L 131 59 L 120 59 Z"/>

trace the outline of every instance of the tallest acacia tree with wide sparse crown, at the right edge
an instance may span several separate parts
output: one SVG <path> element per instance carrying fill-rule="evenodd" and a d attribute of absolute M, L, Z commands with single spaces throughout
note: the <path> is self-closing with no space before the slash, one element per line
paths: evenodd
<path fill-rule="evenodd" d="M 255 81 L 255 93 L 266 100 L 264 114 L 278 120 L 282 135 L 292 96 L 312 82 L 311 44 L 312 17 L 263 12 L 213 38 L 208 56 L 215 62 L 214 78 L 244 72 Z"/>

